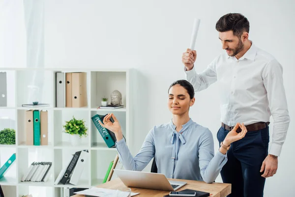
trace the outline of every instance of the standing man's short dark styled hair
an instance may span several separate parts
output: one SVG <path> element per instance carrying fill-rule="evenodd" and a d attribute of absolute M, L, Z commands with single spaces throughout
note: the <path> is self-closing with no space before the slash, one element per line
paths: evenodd
<path fill-rule="evenodd" d="M 234 35 L 240 37 L 243 32 L 249 33 L 250 25 L 246 17 L 239 13 L 229 13 L 222 16 L 216 23 L 218 32 L 233 31 Z"/>

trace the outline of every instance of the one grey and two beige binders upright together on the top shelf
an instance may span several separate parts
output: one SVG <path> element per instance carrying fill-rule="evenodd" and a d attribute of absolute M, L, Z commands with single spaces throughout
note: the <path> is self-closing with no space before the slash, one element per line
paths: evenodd
<path fill-rule="evenodd" d="M 87 73 L 56 73 L 56 107 L 87 106 Z"/>

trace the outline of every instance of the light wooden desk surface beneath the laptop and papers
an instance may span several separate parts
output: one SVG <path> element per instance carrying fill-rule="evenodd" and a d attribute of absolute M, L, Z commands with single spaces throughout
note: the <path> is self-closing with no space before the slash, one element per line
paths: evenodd
<path fill-rule="evenodd" d="M 227 195 L 231 194 L 232 185 L 227 183 L 211 183 L 207 184 L 202 181 L 192 181 L 192 180 L 182 180 L 182 179 L 168 179 L 168 180 L 176 180 L 176 181 L 185 181 L 187 184 L 181 187 L 177 191 L 181 191 L 184 189 L 192 189 L 192 190 L 199 190 L 204 192 L 209 192 L 210 197 L 226 197 Z M 112 190 L 120 190 L 122 188 L 126 188 L 123 182 L 116 178 L 113 181 L 106 182 L 97 186 L 99 188 L 106 188 Z M 163 197 L 168 195 L 170 192 L 167 191 L 160 191 L 160 190 L 148 190 L 148 189 L 141 189 L 141 188 L 131 188 L 132 192 L 140 193 L 134 197 Z M 84 197 L 84 195 L 74 195 L 72 197 Z"/>

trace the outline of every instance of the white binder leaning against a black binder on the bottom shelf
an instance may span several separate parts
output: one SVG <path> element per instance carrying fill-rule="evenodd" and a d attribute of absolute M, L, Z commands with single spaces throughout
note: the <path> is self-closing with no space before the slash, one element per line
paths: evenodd
<path fill-rule="evenodd" d="M 78 185 L 78 182 L 80 180 L 83 170 L 85 168 L 87 168 L 86 164 L 87 164 L 88 157 L 89 157 L 88 150 L 81 152 L 78 162 L 77 162 L 77 164 L 74 168 L 74 171 L 71 175 L 70 184 Z"/>

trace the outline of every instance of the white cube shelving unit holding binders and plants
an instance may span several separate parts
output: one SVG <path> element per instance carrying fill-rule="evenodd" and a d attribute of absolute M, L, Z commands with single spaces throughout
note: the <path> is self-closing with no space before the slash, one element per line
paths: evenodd
<path fill-rule="evenodd" d="M 9 191 L 8 197 L 21 197 L 29 193 L 42 190 L 42 197 L 61 197 L 63 188 L 90 188 L 102 183 L 108 166 L 114 160 L 116 148 L 108 148 L 99 131 L 92 123 L 91 117 L 95 114 L 104 115 L 114 113 L 121 124 L 127 145 L 131 146 L 132 125 L 131 117 L 131 69 L 69 69 L 69 68 L 0 68 L 0 72 L 7 73 L 7 107 L 0 107 L 0 116 L 10 113 L 15 120 L 16 130 L 15 145 L 0 145 L 0 154 L 15 152 L 15 167 L 10 168 L 14 173 L 5 175 L 0 179 L 0 185 Z M 87 99 L 88 106 L 81 108 L 57 108 L 56 98 L 56 72 L 87 72 Z M 28 85 L 35 73 L 44 74 L 44 88 L 40 102 L 50 103 L 50 107 L 28 108 Z M 13 78 L 13 79 L 12 79 Z M 107 96 L 111 101 L 111 93 L 118 90 L 122 94 L 124 108 L 97 109 L 101 98 Z M 47 146 L 28 146 L 25 132 L 25 111 L 39 109 L 48 111 L 48 144 Z M 8 111 L 8 112 L 7 112 Z M 11 115 L 12 114 L 12 115 Z M 63 132 L 62 125 L 72 117 L 84 119 L 88 127 L 88 136 L 83 138 L 80 146 L 73 147 L 69 134 Z M 89 150 L 89 160 L 84 169 L 78 185 L 54 185 L 60 170 L 67 164 L 71 154 L 76 151 Z M 5 154 L 4 154 L 5 155 Z M 5 155 L 9 158 L 11 155 Z M 4 156 L 3 156 L 4 157 Z M 0 157 L 1 158 L 1 157 Z M 6 161 L 1 161 L 4 164 Z M 52 162 L 52 175 L 47 182 L 21 182 L 21 178 L 32 162 Z M 44 196 L 44 191 L 47 194 Z M 40 195 L 39 195 L 40 196 Z M 41 197 L 40 196 L 40 197 Z M 35 196 L 34 196 L 35 197 Z"/>

